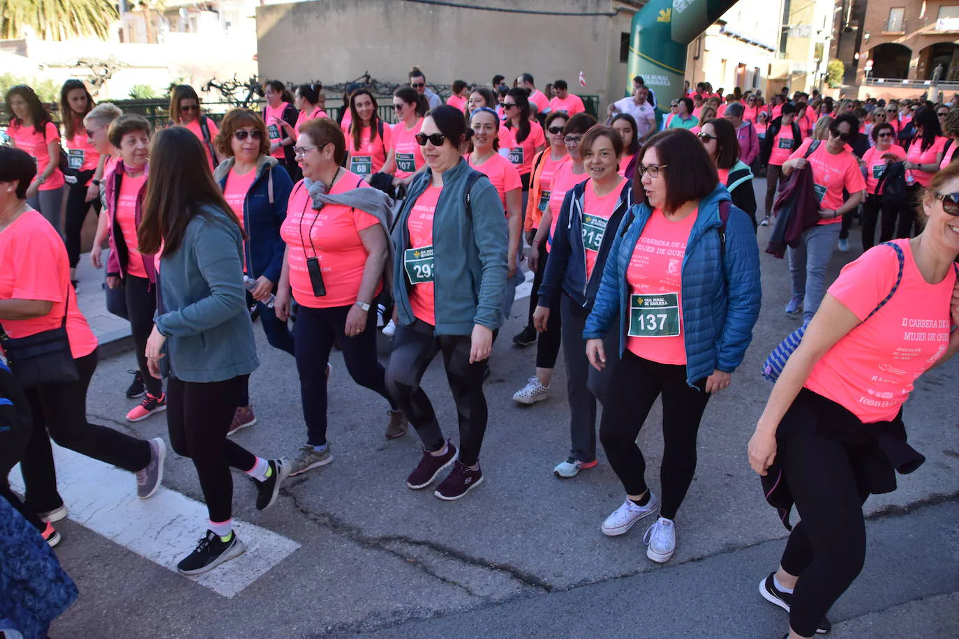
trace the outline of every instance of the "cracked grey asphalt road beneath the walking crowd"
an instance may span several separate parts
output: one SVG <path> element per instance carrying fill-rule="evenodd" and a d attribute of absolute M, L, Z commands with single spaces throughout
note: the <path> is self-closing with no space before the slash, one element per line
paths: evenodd
<path fill-rule="evenodd" d="M 767 237 L 760 229 L 760 248 Z M 857 250 L 836 252 L 830 277 Z M 410 431 L 386 441 L 386 402 L 353 383 L 335 353 L 334 463 L 293 478 L 266 513 L 254 509 L 253 489 L 235 476 L 234 516 L 301 547 L 226 598 L 65 521 L 57 552 L 81 597 L 52 637 L 781 637 L 786 616 L 760 599 L 758 584 L 775 568 L 786 531 L 762 499 L 746 443 L 770 390 L 760 363 L 798 321 L 783 312 L 786 263 L 762 255 L 761 267 L 755 338 L 732 385 L 706 411 L 699 466 L 676 519 L 678 548 L 669 563 L 645 558 L 641 526 L 615 538 L 600 533 L 623 499 L 601 451 L 597 468 L 572 480 L 552 475 L 569 446 L 566 378 L 560 363 L 550 399 L 531 407 L 512 401 L 534 365 L 534 349 L 509 340 L 525 323 L 527 300 L 520 300 L 485 385 L 485 482 L 466 498 L 442 502 L 432 491 L 406 487 L 418 440 Z M 236 441 L 259 455 L 292 457 L 305 442 L 295 367 L 255 331 L 261 367 L 251 396 L 259 423 Z M 129 353 L 101 362 L 90 420 L 165 436 L 162 416 L 132 426 L 123 421 L 132 405 L 123 397 L 132 366 Z M 906 406 L 910 441 L 928 461 L 901 476 L 898 491 L 867 502 L 869 556 L 830 613 L 836 636 L 959 636 L 959 409 L 947 392 L 957 373 L 952 361 L 921 378 Z M 423 385 L 456 441 L 456 410 L 439 358 Z M 660 420 L 657 407 L 639 437 L 649 468 L 661 459 Z M 188 460 L 172 454 L 166 471 L 168 488 L 201 499 Z M 656 491 L 657 473 L 648 479 Z M 204 524 L 198 519 L 196 535 L 182 539 L 182 554 Z M 243 525 L 237 530 L 244 536 Z"/>

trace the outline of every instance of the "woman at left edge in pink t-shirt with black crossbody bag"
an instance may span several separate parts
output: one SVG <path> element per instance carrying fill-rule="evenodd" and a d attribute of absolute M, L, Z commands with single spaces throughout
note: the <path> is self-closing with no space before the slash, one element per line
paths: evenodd
<path fill-rule="evenodd" d="M 160 487 L 166 445 L 160 438 L 147 442 L 87 421 L 86 392 L 97 368 L 97 338 L 77 307 L 63 241 L 26 201 L 35 174 L 35 160 L 26 151 L 0 147 L 0 327 L 15 339 L 56 331 L 65 324 L 77 378 L 24 389 L 34 421 L 20 464 L 31 510 L 12 496 L 6 474 L 0 477 L 0 494 L 12 498 L 12 505 L 53 546 L 58 532 L 39 519 L 59 521 L 66 516 L 66 507 L 57 491 L 48 436 L 86 457 L 137 473 L 141 499 Z M 15 376 L 15 358 L 11 369 Z M 85 488 L 103 489 L 92 484 Z"/>

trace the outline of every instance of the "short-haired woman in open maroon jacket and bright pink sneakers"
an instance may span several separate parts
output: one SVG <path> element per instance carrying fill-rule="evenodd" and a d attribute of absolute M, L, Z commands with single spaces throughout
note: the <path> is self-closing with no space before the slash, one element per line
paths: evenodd
<path fill-rule="evenodd" d="M 120 149 L 120 159 L 104 177 L 105 216 L 97 226 L 90 262 L 102 268 L 101 253 L 109 236 L 110 254 L 106 263 L 106 285 L 124 287 L 129 329 L 135 346 L 137 371 L 127 390 L 128 398 L 144 394 L 143 400 L 127 414 L 129 422 L 142 422 L 153 413 L 167 409 L 162 382 L 147 369 L 147 338 L 156 311 L 156 266 L 150 254 L 140 251 L 137 229 L 143 218 L 150 168 L 150 123 L 139 115 L 125 115 L 113 121 L 109 142 Z"/>

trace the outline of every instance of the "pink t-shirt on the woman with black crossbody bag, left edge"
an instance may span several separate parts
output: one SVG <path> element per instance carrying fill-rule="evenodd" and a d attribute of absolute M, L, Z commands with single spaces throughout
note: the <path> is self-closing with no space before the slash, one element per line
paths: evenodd
<path fill-rule="evenodd" d="M 2 320 L 0 325 L 13 338 L 58 329 L 67 299 L 66 334 L 70 354 L 77 359 L 93 353 L 97 338 L 77 308 L 63 240 L 43 216 L 28 211 L 0 231 L 0 300 L 41 300 L 53 302 L 53 307 L 42 317 Z"/>

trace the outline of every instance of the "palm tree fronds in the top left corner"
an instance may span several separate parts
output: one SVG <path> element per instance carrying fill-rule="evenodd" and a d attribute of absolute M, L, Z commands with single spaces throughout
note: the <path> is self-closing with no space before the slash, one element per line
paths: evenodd
<path fill-rule="evenodd" d="M 110 0 L 0 0 L 0 39 L 23 37 L 26 27 L 44 40 L 106 39 L 117 18 Z"/>

